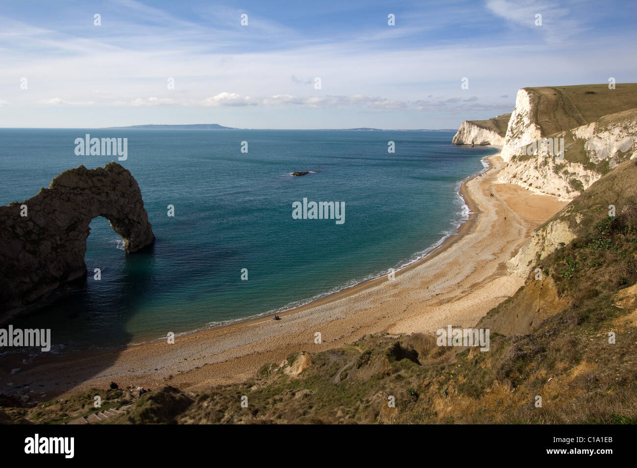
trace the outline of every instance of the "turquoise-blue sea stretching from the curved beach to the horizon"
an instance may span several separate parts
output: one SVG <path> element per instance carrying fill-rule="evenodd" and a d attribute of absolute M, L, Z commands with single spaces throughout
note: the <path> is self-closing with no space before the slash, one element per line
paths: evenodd
<path fill-rule="evenodd" d="M 76 156 L 87 133 L 128 139 L 120 164 L 140 185 L 157 241 L 127 256 L 109 223 L 93 220 L 85 283 L 11 322 L 52 329 L 55 352 L 282 311 L 409 264 L 468 216 L 457 190 L 495 152 L 452 146 L 450 131 L 0 129 L 0 204 L 71 167 L 118 162 Z M 344 202 L 345 222 L 293 219 L 303 198 Z"/>

